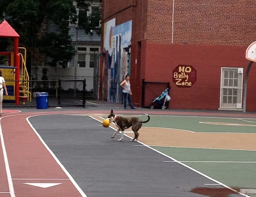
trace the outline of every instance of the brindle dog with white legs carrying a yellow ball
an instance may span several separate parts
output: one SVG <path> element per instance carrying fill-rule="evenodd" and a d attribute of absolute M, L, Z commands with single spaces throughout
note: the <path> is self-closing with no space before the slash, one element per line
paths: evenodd
<path fill-rule="evenodd" d="M 149 115 L 148 114 L 146 115 L 148 116 L 148 120 L 142 121 L 136 117 L 126 118 L 126 117 L 116 116 L 113 110 L 111 110 L 110 115 L 108 116 L 108 119 L 110 120 L 110 122 L 114 122 L 118 127 L 118 130 L 114 132 L 111 138 L 114 138 L 118 132 L 122 131 L 121 138 L 117 140 L 117 141 L 122 141 L 122 139 L 124 139 L 123 138 L 124 130 L 132 127 L 132 130 L 134 132 L 134 138 L 130 140 L 130 142 L 137 142 L 138 136 L 139 136 L 138 130 L 142 127 L 142 123 L 146 123 L 150 120 Z"/>

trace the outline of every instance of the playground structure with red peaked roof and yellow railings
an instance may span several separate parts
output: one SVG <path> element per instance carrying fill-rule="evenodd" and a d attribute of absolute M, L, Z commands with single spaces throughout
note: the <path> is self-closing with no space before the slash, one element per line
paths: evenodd
<path fill-rule="evenodd" d="M 0 65 L 8 96 L 4 96 L 4 101 L 15 101 L 19 105 L 21 99 L 23 104 L 25 101 L 31 101 L 31 92 L 29 91 L 29 75 L 26 69 L 26 49 L 19 47 L 19 37 L 17 32 L 4 20 L 0 24 L 0 37 L 13 38 L 13 52 L 0 52 L 0 55 L 8 57 L 5 65 Z"/>

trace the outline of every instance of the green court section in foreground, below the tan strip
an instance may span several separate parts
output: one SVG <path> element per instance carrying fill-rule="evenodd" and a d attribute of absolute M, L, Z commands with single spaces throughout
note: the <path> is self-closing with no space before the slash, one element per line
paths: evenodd
<path fill-rule="evenodd" d="M 160 146 L 152 148 L 229 187 L 256 188 L 256 151 Z"/>

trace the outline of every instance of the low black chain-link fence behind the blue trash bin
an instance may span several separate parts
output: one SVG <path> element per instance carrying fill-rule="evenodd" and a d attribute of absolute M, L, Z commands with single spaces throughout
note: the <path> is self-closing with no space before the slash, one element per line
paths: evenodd
<path fill-rule="evenodd" d="M 10 84 L 14 84 L 14 80 L 6 80 Z M 20 97 L 27 96 L 26 93 L 22 93 L 22 83 L 20 83 Z M 8 87 L 7 87 L 8 88 Z M 13 88 L 13 87 L 12 87 Z M 20 106 L 36 107 L 36 93 L 48 93 L 48 106 L 83 106 L 85 107 L 86 99 L 92 99 L 93 91 L 86 90 L 86 79 L 59 79 L 59 80 L 30 80 L 29 90 L 31 93 L 31 100 L 28 98 L 24 103 L 20 99 Z M 14 97 L 3 101 L 3 106 L 13 107 L 16 106 Z"/>

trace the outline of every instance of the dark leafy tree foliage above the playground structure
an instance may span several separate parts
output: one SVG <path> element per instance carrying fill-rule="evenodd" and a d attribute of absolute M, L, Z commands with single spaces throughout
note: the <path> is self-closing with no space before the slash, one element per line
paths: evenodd
<path fill-rule="evenodd" d="M 78 9 L 86 10 L 90 2 L 76 1 Z M 0 20 L 6 20 L 16 30 L 20 45 L 30 55 L 39 51 L 50 58 L 49 65 L 64 67 L 76 53 L 68 34 L 69 24 L 76 24 L 79 18 L 72 0 L 1 0 L 0 8 Z M 86 33 L 97 29 L 95 17 L 80 18 L 78 26 Z M 0 45 L 1 42 L 4 43 L 0 40 Z"/>

